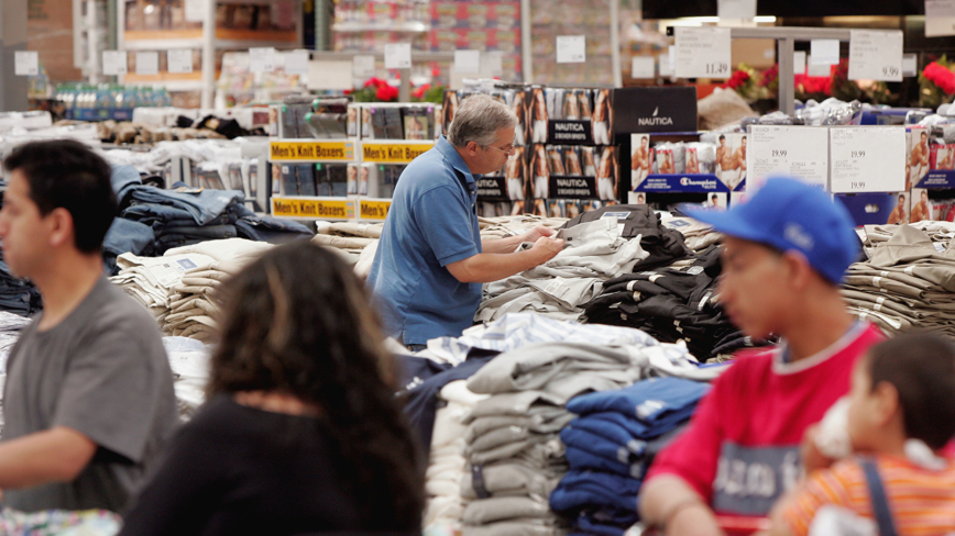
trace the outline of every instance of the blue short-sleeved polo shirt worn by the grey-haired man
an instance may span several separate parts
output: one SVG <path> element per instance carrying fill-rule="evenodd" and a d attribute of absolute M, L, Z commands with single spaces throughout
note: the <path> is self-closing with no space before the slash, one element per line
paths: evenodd
<path fill-rule="evenodd" d="M 481 253 L 475 180 L 442 137 L 395 186 L 369 287 L 385 331 L 405 344 L 457 337 L 473 322 L 481 284 L 458 281 L 447 266 Z"/>

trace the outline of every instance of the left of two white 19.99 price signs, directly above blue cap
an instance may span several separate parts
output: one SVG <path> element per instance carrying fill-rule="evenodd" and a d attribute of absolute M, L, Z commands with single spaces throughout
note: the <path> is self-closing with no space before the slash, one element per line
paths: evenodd
<path fill-rule="evenodd" d="M 828 129 L 826 126 L 753 125 L 746 149 L 746 192 L 770 177 L 795 177 L 828 187 Z"/>

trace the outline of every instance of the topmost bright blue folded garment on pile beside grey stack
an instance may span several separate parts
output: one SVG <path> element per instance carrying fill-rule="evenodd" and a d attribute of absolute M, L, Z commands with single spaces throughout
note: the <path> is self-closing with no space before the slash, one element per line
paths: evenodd
<path fill-rule="evenodd" d="M 626 389 L 583 394 L 571 400 L 567 410 L 579 415 L 617 412 L 654 425 L 670 413 L 695 406 L 710 386 L 682 378 L 651 378 Z"/>

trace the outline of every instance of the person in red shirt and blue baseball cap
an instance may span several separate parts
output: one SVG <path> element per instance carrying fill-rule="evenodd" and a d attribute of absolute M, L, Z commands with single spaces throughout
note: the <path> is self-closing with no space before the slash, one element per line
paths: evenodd
<path fill-rule="evenodd" d="M 688 212 L 726 236 L 726 314 L 753 338 L 783 340 L 737 355 L 644 481 L 646 524 L 703 536 L 722 534 L 717 515 L 769 514 L 800 477 L 804 431 L 848 392 L 856 359 L 882 336 L 855 322 L 839 295 L 859 239 L 821 189 L 769 179 L 733 210 Z"/>

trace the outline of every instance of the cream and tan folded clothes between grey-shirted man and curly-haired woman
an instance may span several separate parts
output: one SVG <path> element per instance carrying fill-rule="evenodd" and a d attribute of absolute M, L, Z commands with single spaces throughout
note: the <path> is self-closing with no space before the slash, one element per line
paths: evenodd
<path fill-rule="evenodd" d="M 207 340 L 219 310 L 215 289 L 271 247 L 231 238 L 174 248 L 163 257 L 123 254 L 110 281 L 146 306 L 164 334 Z"/>

